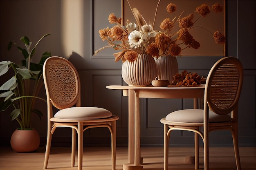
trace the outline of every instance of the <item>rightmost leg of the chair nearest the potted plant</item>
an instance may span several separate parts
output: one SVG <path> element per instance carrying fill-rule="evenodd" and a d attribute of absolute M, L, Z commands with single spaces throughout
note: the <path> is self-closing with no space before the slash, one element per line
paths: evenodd
<path fill-rule="evenodd" d="M 111 151 L 112 151 L 112 170 L 116 169 L 116 148 L 117 148 L 117 130 L 116 121 L 111 121 Z"/>

